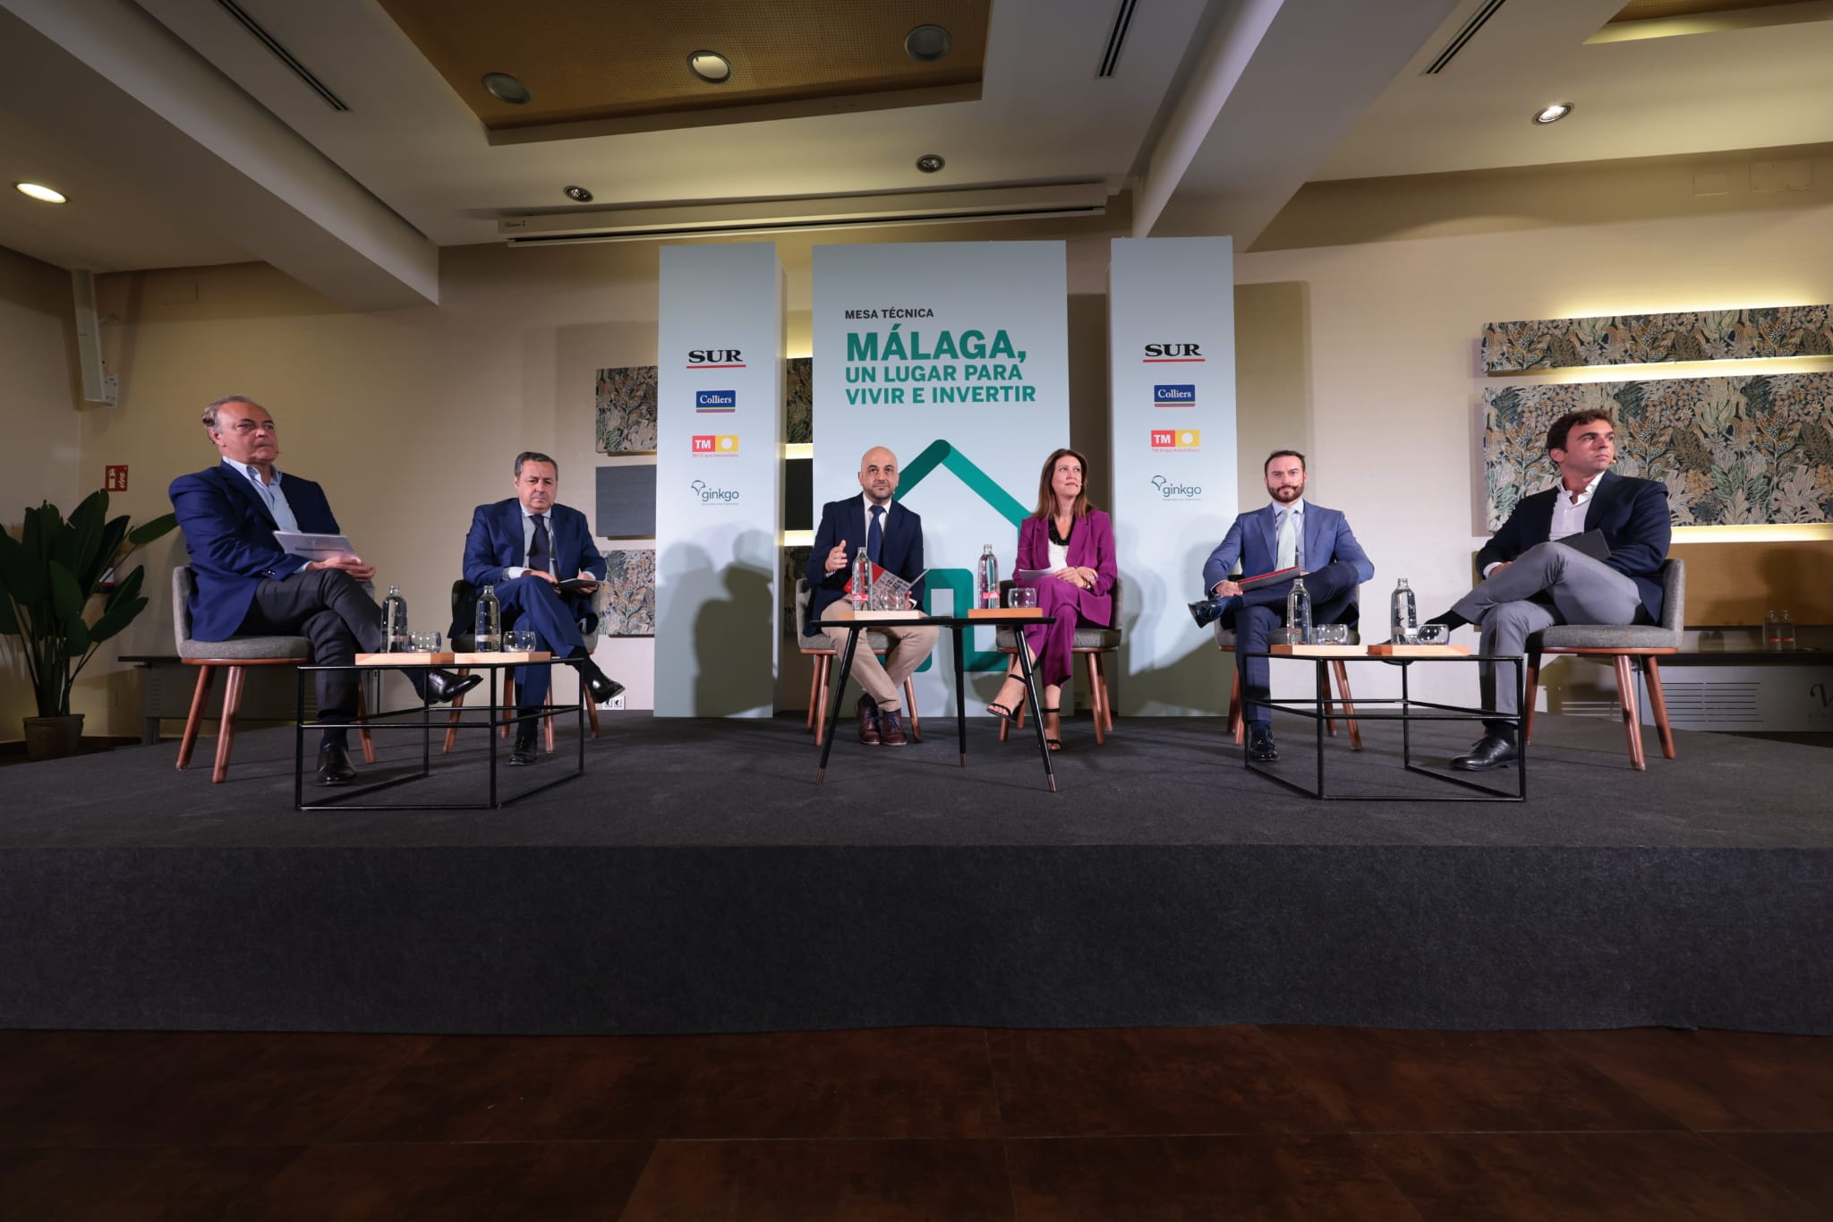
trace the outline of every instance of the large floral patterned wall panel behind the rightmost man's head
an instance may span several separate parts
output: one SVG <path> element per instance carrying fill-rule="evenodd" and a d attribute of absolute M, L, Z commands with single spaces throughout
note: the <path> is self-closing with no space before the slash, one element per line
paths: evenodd
<path fill-rule="evenodd" d="M 1675 526 L 1833 522 L 1833 374 L 1675 377 L 1483 392 L 1488 528 L 1551 487 L 1547 427 L 1602 409 L 1617 475 L 1663 480 Z"/>

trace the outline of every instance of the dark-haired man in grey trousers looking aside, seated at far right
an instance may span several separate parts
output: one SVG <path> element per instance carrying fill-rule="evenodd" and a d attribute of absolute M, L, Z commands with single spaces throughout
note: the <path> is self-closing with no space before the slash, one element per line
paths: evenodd
<path fill-rule="evenodd" d="M 1477 553 L 1483 581 L 1428 623 L 1472 623 L 1479 652 L 1521 656 L 1527 638 L 1556 623 L 1655 623 L 1661 564 L 1674 524 L 1668 486 L 1615 475 L 1617 429 L 1609 412 L 1567 412 L 1547 429 L 1560 482 L 1523 496 Z M 1569 540 L 1569 542 L 1560 542 Z M 1483 707 L 1516 715 L 1518 674 L 1481 663 Z M 1514 726 L 1485 722 L 1483 738 L 1452 768 L 1485 771 L 1520 757 Z"/>

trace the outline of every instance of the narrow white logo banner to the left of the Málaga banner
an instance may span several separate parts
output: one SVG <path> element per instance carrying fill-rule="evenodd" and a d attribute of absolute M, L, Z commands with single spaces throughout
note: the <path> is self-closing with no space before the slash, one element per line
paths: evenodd
<path fill-rule="evenodd" d="M 783 264 L 664 245 L 656 716 L 770 716 L 783 522 Z"/>

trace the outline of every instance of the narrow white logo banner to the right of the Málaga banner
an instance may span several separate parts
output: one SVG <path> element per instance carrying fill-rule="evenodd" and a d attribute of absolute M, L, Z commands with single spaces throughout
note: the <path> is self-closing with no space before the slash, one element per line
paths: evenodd
<path fill-rule="evenodd" d="M 1235 518 L 1230 238 L 1116 238 L 1107 267 L 1124 713 L 1219 713 L 1228 669 L 1184 610 Z"/>

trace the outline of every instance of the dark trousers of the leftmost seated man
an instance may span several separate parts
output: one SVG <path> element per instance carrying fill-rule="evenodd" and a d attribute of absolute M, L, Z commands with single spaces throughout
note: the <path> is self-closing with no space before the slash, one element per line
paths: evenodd
<path fill-rule="evenodd" d="M 346 667 L 357 654 L 381 649 L 381 608 L 357 581 L 339 568 L 308 568 L 255 586 L 255 601 L 238 636 L 302 636 L 312 661 Z M 420 678 L 418 672 L 412 678 Z M 319 671 L 319 715 L 346 722 L 356 716 L 354 671 Z M 418 683 L 416 683 L 418 687 Z M 343 740 L 343 731 L 324 736 Z"/>

